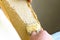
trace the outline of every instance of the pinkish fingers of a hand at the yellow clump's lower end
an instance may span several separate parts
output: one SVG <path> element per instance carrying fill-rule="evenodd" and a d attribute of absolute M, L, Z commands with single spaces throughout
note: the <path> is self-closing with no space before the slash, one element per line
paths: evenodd
<path fill-rule="evenodd" d="M 53 40 L 52 36 L 45 30 L 41 30 L 39 33 L 33 32 L 30 40 Z"/>

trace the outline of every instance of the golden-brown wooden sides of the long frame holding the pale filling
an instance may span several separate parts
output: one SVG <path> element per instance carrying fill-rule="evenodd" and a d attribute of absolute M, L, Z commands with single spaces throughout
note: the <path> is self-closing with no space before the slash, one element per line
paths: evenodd
<path fill-rule="evenodd" d="M 31 5 L 27 5 L 30 7 Z M 17 15 L 14 9 L 10 7 L 8 2 L 6 0 L 0 0 L 0 7 L 4 11 L 5 15 L 7 16 L 8 20 L 12 23 L 16 31 L 18 32 L 19 36 L 21 37 L 22 40 L 30 40 L 30 35 L 26 31 L 26 25 L 24 22 L 21 20 L 21 18 Z M 37 20 L 37 16 L 33 9 L 30 7 L 34 18 Z M 39 21 L 37 20 L 39 23 Z"/>

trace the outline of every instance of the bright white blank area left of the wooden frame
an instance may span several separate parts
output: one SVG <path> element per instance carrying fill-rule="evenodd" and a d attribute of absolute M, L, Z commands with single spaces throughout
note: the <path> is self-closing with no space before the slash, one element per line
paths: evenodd
<path fill-rule="evenodd" d="M 0 40 L 21 40 L 18 33 L 0 9 Z"/>

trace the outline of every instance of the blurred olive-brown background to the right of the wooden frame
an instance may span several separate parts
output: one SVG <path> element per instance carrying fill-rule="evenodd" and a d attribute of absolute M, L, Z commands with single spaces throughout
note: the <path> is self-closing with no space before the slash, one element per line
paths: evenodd
<path fill-rule="evenodd" d="M 33 0 L 31 4 L 45 30 L 60 31 L 60 0 Z"/>

